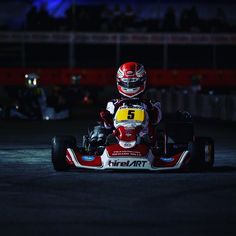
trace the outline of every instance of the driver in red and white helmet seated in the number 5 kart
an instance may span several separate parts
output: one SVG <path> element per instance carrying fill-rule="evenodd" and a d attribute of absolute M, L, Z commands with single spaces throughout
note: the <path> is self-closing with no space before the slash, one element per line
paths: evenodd
<path fill-rule="evenodd" d="M 108 142 L 108 137 L 111 136 L 108 134 L 114 129 L 114 115 L 124 104 L 140 105 L 146 111 L 147 125 L 141 130 L 140 136 L 145 143 L 154 144 L 154 126 L 160 122 L 162 112 L 159 102 L 144 98 L 147 82 L 144 66 L 137 62 L 124 63 L 117 71 L 116 82 L 121 98 L 109 101 L 106 109 L 100 111 L 102 125 L 95 126 L 90 133 L 91 147 L 102 146 Z"/>

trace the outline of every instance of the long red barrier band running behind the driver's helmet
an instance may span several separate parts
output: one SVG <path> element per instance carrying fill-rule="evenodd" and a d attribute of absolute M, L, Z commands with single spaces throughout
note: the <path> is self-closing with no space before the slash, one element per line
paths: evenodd
<path fill-rule="evenodd" d="M 107 86 L 115 84 L 115 68 L 0 68 L 0 85 L 23 85 L 25 74 L 34 72 L 42 85 L 70 85 L 73 75 L 80 75 L 81 85 Z M 151 86 L 189 86 L 193 79 L 204 87 L 235 87 L 236 70 L 148 70 Z"/>

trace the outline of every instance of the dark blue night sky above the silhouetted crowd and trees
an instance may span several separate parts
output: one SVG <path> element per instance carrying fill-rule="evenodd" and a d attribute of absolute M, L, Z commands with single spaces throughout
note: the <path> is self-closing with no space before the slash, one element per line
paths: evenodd
<path fill-rule="evenodd" d="M 132 4 L 136 13 L 141 18 L 162 18 L 168 6 L 175 9 L 178 17 L 184 8 L 196 6 L 202 18 L 214 17 L 218 7 L 223 8 L 227 19 L 236 22 L 236 1 L 235 0 L 1 0 L 0 1 L 0 25 L 10 24 L 15 26 L 22 24 L 24 16 L 32 4 L 37 8 L 44 5 L 50 15 L 64 17 L 66 9 L 71 3 L 77 4 L 103 4 L 106 3 L 112 9 L 119 4 L 121 9 L 129 3 Z"/>

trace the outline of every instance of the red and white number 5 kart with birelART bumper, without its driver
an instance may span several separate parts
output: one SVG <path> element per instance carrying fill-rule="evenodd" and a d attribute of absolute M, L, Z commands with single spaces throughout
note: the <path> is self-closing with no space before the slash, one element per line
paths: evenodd
<path fill-rule="evenodd" d="M 114 117 L 115 130 L 105 145 L 89 149 L 89 136 L 79 147 L 73 136 L 52 139 L 52 163 L 56 171 L 73 168 L 95 170 L 208 170 L 214 163 L 214 141 L 195 137 L 192 121 L 167 121 L 156 131 L 155 144 L 142 136 L 147 112 L 139 105 L 123 105 Z"/>

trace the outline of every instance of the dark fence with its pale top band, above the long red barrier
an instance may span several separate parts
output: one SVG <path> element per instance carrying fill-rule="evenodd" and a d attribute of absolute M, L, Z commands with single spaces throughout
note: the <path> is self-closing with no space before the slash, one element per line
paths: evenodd
<path fill-rule="evenodd" d="M 236 34 L 0 31 L 0 67 L 234 69 Z M 92 55 L 92 56 L 91 56 Z"/>

